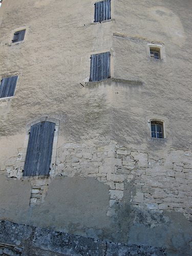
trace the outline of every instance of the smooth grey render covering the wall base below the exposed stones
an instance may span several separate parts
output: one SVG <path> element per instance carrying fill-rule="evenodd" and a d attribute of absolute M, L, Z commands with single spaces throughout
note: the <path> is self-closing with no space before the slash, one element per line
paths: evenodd
<path fill-rule="evenodd" d="M 112 242 L 165 247 L 169 255 L 190 255 L 192 224 L 175 211 L 134 207 L 132 182 L 124 182 L 121 202 L 109 209 L 109 186 L 95 178 L 56 176 L 45 201 L 29 206 L 30 182 L 5 178 L 1 219 Z M 188 254 L 187 254 L 188 253 Z"/>

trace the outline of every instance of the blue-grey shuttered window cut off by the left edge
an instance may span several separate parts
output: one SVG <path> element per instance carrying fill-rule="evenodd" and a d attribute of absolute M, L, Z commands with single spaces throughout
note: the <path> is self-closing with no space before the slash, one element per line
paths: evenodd
<path fill-rule="evenodd" d="M 4 77 L 0 85 L 0 98 L 14 95 L 18 76 Z"/>

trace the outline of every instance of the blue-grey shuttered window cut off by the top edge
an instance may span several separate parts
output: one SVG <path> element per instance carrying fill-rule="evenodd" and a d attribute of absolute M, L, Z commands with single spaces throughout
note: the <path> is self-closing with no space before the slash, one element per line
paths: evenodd
<path fill-rule="evenodd" d="M 104 0 L 95 3 L 95 20 L 94 22 L 103 22 L 111 19 L 111 0 Z"/>

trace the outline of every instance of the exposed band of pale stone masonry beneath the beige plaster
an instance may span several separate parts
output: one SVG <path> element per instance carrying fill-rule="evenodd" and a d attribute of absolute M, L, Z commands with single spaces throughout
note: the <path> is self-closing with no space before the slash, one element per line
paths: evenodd
<path fill-rule="evenodd" d="M 54 176 L 96 177 L 110 187 L 110 206 L 122 200 L 123 182 L 133 182 L 136 194 L 132 192 L 131 202 L 135 206 L 155 211 L 174 209 L 189 219 L 192 214 L 191 155 L 191 152 L 171 148 L 166 158 L 153 159 L 146 152 L 118 145 L 116 141 L 100 147 L 72 142 L 58 148 Z M 23 178 L 18 161 L 15 162 L 17 168 L 6 166 L 9 177 Z M 51 179 L 30 179 L 31 206 L 44 200 Z"/>

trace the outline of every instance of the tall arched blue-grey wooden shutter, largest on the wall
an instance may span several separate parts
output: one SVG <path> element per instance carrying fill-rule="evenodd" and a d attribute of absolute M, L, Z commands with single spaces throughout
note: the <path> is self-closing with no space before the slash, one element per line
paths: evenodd
<path fill-rule="evenodd" d="M 40 122 L 31 126 L 24 176 L 49 175 L 55 123 Z"/>

